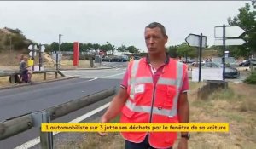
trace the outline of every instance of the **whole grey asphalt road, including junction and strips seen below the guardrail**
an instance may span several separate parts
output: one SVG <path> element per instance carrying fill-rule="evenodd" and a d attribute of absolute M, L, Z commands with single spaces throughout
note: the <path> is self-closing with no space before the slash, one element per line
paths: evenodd
<path fill-rule="evenodd" d="M 63 73 L 71 75 L 68 72 L 72 71 L 64 71 Z M 119 87 L 119 83 L 121 81 L 120 78 L 123 77 L 125 70 L 87 70 L 77 72 L 73 71 L 72 73 L 73 76 L 84 78 L 75 78 L 58 82 L 30 85 L 22 88 L 0 90 L 0 121 L 28 112 L 34 112 L 51 106 L 60 105 L 61 103 L 65 103 L 69 100 L 75 100 L 85 95 L 91 95 L 103 89 L 109 89 L 113 86 Z M 70 122 L 76 117 L 84 115 L 86 112 L 90 112 L 99 106 L 105 105 L 110 100 L 111 98 L 100 103 L 96 103 L 90 107 L 83 108 L 78 112 L 68 114 L 65 117 L 57 118 L 55 122 Z M 32 128 L 20 135 L 15 135 L 6 140 L 1 140 L 0 146 L 3 148 L 14 148 L 38 137 L 38 135 L 38 128 Z"/>

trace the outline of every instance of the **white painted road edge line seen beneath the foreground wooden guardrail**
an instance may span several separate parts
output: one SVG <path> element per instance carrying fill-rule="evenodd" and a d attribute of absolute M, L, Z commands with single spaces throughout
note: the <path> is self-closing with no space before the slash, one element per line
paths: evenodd
<path fill-rule="evenodd" d="M 97 112 L 101 112 L 102 110 L 106 109 L 109 105 L 110 105 L 110 102 L 108 102 L 107 104 L 105 104 L 103 106 L 100 106 L 100 107 L 96 108 L 93 111 L 90 111 L 90 112 L 82 115 L 81 117 L 77 117 L 77 118 L 73 119 L 72 121 L 70 121 L 68 123 L 79 123 L 79 122 L 83 121 L 84 119 L 86 119 L 86 118 L 88 118 L 90 116 L 93 116 Z M 59 133 L 60 132 L 54 132 L 53 135 L 57 135 Z M 38 143 L 40 143 L 40 137 L 34 138 L 32 140 L 29 140 L 26 143 L 24 143 L 24 144 L 22 144 L 20 146 L 15 147 L 15 149 L 27 149 L 27 148 L 30 148 L 32 146 L 36 146 Z"/>

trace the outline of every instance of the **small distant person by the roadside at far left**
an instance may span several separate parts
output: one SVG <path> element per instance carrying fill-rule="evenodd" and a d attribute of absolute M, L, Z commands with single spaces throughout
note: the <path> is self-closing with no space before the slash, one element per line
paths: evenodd
<path fill-rule="evenodd" d="M 26 66 L 26 62 L 27 62 L 27 57 L 24 56 L 23 54 L 21 54 L 20 55 L 20 72 L 21 72 L 21 76 L 22 75 L 28 75 L 27 80 L 23 80 L 23 81 L 28 82 L 28 83 L 32 83 L 32 81 L 31 81 L 31 79 L 32 79 L 32 71 L 27 69 L 30 66 Z"/>

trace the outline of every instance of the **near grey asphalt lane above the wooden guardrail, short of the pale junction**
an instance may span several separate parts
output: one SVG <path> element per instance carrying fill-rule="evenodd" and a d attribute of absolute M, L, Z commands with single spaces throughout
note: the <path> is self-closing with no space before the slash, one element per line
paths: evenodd
<path fill-rule="evenodd" d="M 16 117 L 27 112 L 43 110 L 51 106 L 79 99 L 85 95 L 96 93 L 117 85 L 119 81 L 110 79 L 77 78 L 61 82 L 44 83 L 22 87 L 22 89 L 1 90 L 0 121 Z"/>

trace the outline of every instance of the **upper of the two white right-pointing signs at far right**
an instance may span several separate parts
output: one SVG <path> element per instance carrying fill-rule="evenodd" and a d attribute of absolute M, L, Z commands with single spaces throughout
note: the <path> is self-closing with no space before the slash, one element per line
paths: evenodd
<path fill-rule="evenodd" d="M 216 26 L 214 28 L 216 38 L 223 38 L 223 27 Z M 225 26 L 225 37 L 240 37 L 243 32 L 245 31 L 239 26 Z"/>

